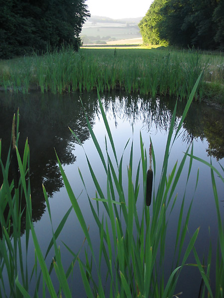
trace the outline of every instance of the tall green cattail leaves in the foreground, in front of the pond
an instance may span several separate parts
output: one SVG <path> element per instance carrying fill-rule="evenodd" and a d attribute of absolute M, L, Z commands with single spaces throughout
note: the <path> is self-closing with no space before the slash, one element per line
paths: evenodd
<path fill-rule="evenodd" d="M 197 81 L 199 83 L 200 77 Z M 147 169 L 149 167 L 150 159 L 152 159 L 152 170 L 155 172 L 156 168 L 156 153 L 153 150 L 148 153 L 148 148 L 145 149 L 140 135 L 140 149 L 139 162 L 137 169 L 132 169 L 133 165 L 133 143 L 127 142 L 123 154 L 118 158 L 114 146 L 112 133 L 99 97 L 99 105 L 104 119 L 104 124 L 107 129 L 107 136 L 105 138 L 106 154 L 103 154 L 103 149 L 99 146 L 96 136 L 89 124 L 87 123 L 96 147 L 96 152 L 101 158 L 104 167 L 104 175 L 107 178 L 107 189 L 104 193 L 103 187 L 97 180 L 94 169 L 91 166 L 90 160 L 87 157 L 89 170 L 91 172 L 92 180 L 96 186 L 96 196 L 92 200 L 87 194 L 87 200 L 92 209 L 93 217 L 99 228 L 99 249 L 95 251 L 94 240 L 89 231 L 86 219 L 79 206 L 79 201 L 73 193 L 63 167 L 60 163 L 60 156 L 58 158 L 59 167 L 64 180 L 64 184 L 71 201 L 71 208 L 65 214 L 61 223 L 56 229 L 52 225 L 52 239 L 49 241 L 47 251 L 44 253 L 41 250 L 38 242 L 38 237 L 35 233 L 34 225 L 32 223 L 32 208 L 29 184 L 29 147 L 26 142 L 23 151 L 23 157 L 20 156 L 17 149 L 18 145 L 18 121 L 15 129 L 12 129 L 12 151 L 9 150 L 6 164 L 3 165 L 0 160 L 1 171 L 3 175 L 3 183 L 0 188 L 0 224 L 2 227 L 2 234 L 0 239 L 0 297 L 6 297 L 7 284 L 10 285 L 10 294 L 8 297 L 26 297 L 30 298 L 29 281 L 32 278 L 36 280 L 36 290 L 32 297 L 75 297 L 75 293 L 71 291 L 68 279 L 69 277 L 76 278 L 74 272 L 80 271 L 82 276 L 83 286 L 88 298 L 104 298 L 104 297 L 121 297 L 121 298 L 171 298 L 175 295 L 175 288 L 179 276 L 182 274 L 184 266 L 197 266 L 201 273 L 204 283 L 202 283 L 201 297 L 216 297 L 223 298 L 224 287 L 224 226 L 223 219 L 219 210 L 219 199 L 216 191 L 216 183 L 214 172 L 222 178 L 222 173 L 219 173 L 211 164 L 208 164 L 208 170 L 211 169 L 211 178 L 213 182 L 214 198 L 217 206 L 218 229 L 219 238 L 216 254 L 216 286 L 215 292 L 210 286 L 210 270 L 211 270 L 211 255 L 212 247 L 209 249 L 208 256 L 198 255 L 194 248 L 197 241 L 197 235 L 200 232 L 199 228 L 189 235 L 188 223 L 190 219 L 193 198 L 190 206 L 185 210 L 185 194 L 188 187 L 189 177 L 191 175 L 191 168 L 193 159 L 198 159 L 193 155 L 193 147 L 188 148 L 183 154 L 182 160 L 173 165 L 171 173 L 168 173 L 168 161 L 170 150 L 178 137 L 182 127 L 185 116 L 188 112 L 189 106 L 193 100 L 194 93 L 197 89 L 197 84 L 190 95 L 183 116 L 180 118 L 180 123 L 177 130 L 174 132 L 174 120 L 176 113 L 176 106 L 171 120 L 170 130 L 167 137 L 167 144 L 163 158 L 163 166 L 158 183 L 158 188 L 155 189 L 155 183 L 147 179 Z M 17 115 L 18 119 L 18 115 Z M 14 120 L 15 121 L 15 117 Z M 74 132 L 71 133 L 77 138 Z M 13 137 L 15 135 L 15 137 Z M 79 141 L 79 139 L 77 138 Z M 129 144 L 129 163 L 123 165 L 123 155 L 126 154 Z M 1 149 L 1 142 L 0 142 Z M 112 153 L 109 153 L 111 151 Z M 12 154 L 12 158 L 10 155 Z M 190 158 L 189 158 L 190 157 Z M 161 156 L 159 156 L 161 158 Z M 203 160 L 201 160 L 204 162 Z M 174 230 L 175 234 L 175 252 L 173 256 L 173 266 L 170 272 L 164 270 L 166 264 L 166 245 L 167 245 L 167 230 L 169 228 L 169 214 L 174 209 L 177 196 L 176 186 L 182 175 L 184 164 L 188 163 L 188 175 L 186 183 L 183 185 L 185 189 L 184 196 L 181 199 L 181 206 L 178 212 L 177 228 Z M 204 162 L 205 163 L 205 162 Z M 209 168 L 210 167 L 210 168 Z M 13 180 L 9 181 L 8 173 L 10 168 L 13 173 Z M 19 168 L 19 172 L 17 171 Z M 124 171 L 123 169 L 126 169 Z M 80 172 L 80 171 L 79 171 Z M 134 174 L 135 173 L 135 174 Z M 127 192 L 125 191 L 123 175 L 127 175 Z M 142 176 L 142 183 L 140 183 L 140 175 Z M 80 177 L 85 182 L 80 172 Z M 151 178 L 150 178 L 151 179 Z M 193 186 L 197 187 L 197 180 Z M 147 207 L 145 200 L 142 200 L 139 194 L 139 188 L 143 189 L 144 198 L 146 196 L 147 187 L 152 187 L 152 205 Z M 192 185 L 189 185 L 192 188 Z M 50 221 L 51 215 L 50 205 L 46 190 L 43 186 L 43 192 L 46 199 L 47 210 Z M 25 199 L 25 205 L 19 204 L 21 199 Z M 96 201 L 96 203 L 95 203 Z M 141 212 L 137 209 L 139 201 L 142 203 Z M 175 206 L 176 207 L 176 206 Z M 8 209 L 5 209 L 8 208 Z M 103 209 L 103 212 L 102 212 Z M 149 212 L 151 209 L 151 212 Z M 100 211 L 99 211 L 100 210 Z M 71 212 L 74 212 L 83 229 L 83 237 L 85 243 L 79 251 L 72 251 L 69 248 L 69 243 L 63 243 L 72 256 L 71 264 L 65 268 L 61 255 L 60 247 L 58 246 L 58 236 L 63 232 L 63 226 Z M 21 217 L 26 217 L 26 241 L 25 249 L 21 246 Z M 72 227 L 71 227 L 72 228 Z M 74 227 L 75 228 L 75 227 Z M 74 230 L 75 233 L 75 230 Z M 29 245 L 29 238 L 35 246 L 35 258 L 33 260 L 33 271 L 31 277 L 27 270 L 27 250 Z M 185 243 L 185 245 L 184 245 Z M 88 245 L 87 245 L 88 244 Z M 51 250 L 53 248 L 53 251 Z M 88 249 L 87 249 L 88 248 Z M 85 250 L 84 257 L 81 257 L 81 249 Z M 187 264 L 188 256 L 194 253 L 195 264 Z M 51 254 L 53 261 L 47 264 L 46 256 Z M 107 272 L 107 281 L 105 284 L 104 275 L 102 272 Z M 58 283 L 53 285 L 51 273 L 54 271 L 57 276 Z M 4 273 L 7 274 L 4 274 Z M 74 275 L 73 275 L 74 274 Z M 2 277 L 5 277 L 4 279 Z M 200 285 L 199 285 L 200 287 Z M 75 289 L 74 289 L 75 290 Z M 209 293 L 209 294 L 208 294 Z M 208 295 L 207 295 L 208 294 Z M 176 295 L 177 297 L 178 295 Z"/>

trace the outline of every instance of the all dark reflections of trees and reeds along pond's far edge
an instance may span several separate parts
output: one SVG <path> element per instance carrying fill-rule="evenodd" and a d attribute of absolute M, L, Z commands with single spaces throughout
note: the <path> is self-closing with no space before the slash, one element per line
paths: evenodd
<path fill-rule="evenodd" d="M 45 211 L 42 183 L 49 196 L 63 186 L 54 148 L 61 162 L 71 164 L 76 161 L 73 152 L 76 140 L 70 133 L 70 126 L 84 143 L 90 138 L 85 113 L 79 98 L 81 96 L 85 112 L 91 126 L 95 117 L 100 116 L 97 94 L 8 94 L 0 93 L 0 138 L 2 139 L 1 158 L 6 160 L 10 145 L 11 122 L 13 114 L 19 108 L 19 145 L 22 152 L 26 138 L 30 146 L 30 183 L 34 221 L 40 220 Z M 152 125 L 157 130 L 167 131 L 175 100 L 169 98 L 148 99 L 147 96 L 128 95 L 113 92 L 102 96 L 108 117 L 128 121 L 134 124 L 141 121 L 147 131 Z M 178 102 L 175 126 L 185 108 L 185 102 Z M 217 160 L 224 157 L 224 117 L 223 112 L 210 108 L 207 104 L 194 102 L 183 123 L 184 142 L 207 140 L 207 152 Z M 2 177 L 0 177 L 2 181 Z"/>

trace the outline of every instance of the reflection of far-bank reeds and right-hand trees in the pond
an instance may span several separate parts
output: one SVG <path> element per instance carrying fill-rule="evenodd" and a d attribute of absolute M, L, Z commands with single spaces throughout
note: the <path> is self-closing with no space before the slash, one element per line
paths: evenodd
<path fill-rule="evenodd" d="M 153 125 L 156 129 L 167 130 L 176 104 L 170 98 L 151 99 L 147 96 L 112 93 L 103 96 L 104 107 L 110 116 L 133 123 L 142 120 L 143 125 L 150 131 Z M 174 127 L 177 127 L 182 117 L 186 101 L 178 101 Z M 224 117 L 223 112 L 210 108 L 205 103 L 193 102 L 183 123 L 182 140 L 191 143 L 198 138 L 205 138 L 209 143 L 207 152 L 217 159 L 224 157 Z"/>

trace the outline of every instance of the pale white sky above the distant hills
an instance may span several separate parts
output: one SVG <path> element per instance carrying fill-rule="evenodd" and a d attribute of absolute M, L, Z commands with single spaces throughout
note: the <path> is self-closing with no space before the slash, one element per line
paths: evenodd
<path fill-rule="evenodd" d="M 113 19 L 144 16 L 153 0 L 86 0 L 91 15 Z"/>

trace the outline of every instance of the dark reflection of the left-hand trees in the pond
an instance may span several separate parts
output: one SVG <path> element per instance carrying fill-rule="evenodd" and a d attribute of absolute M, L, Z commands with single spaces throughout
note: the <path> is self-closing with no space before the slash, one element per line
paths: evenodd
<path fill-rule="evenodd" d="M 82 98 L 91 125 L 94 124 L 95 103 L 88 96 Z M 70 126 L 83 143 L 90 137 L 82 104 L 77 95 L 0 94 L 1 158 L 5 162 L 10 145 L 13 113 L 19 107 L 19 151 L 26 138 L 30 147 L 30 184 L 33 220 L 40 220 L 45 211 L 42 183 L 49 196 L 63 186 L 54 148 L 63 164 L 75 162 L 75 138 Z M 0 177 L 0 181 L 2 178 Z M 9 177 L 12 180 L 12 177 Z M 0 182 L 1 184 L 1 182 Z"/>

